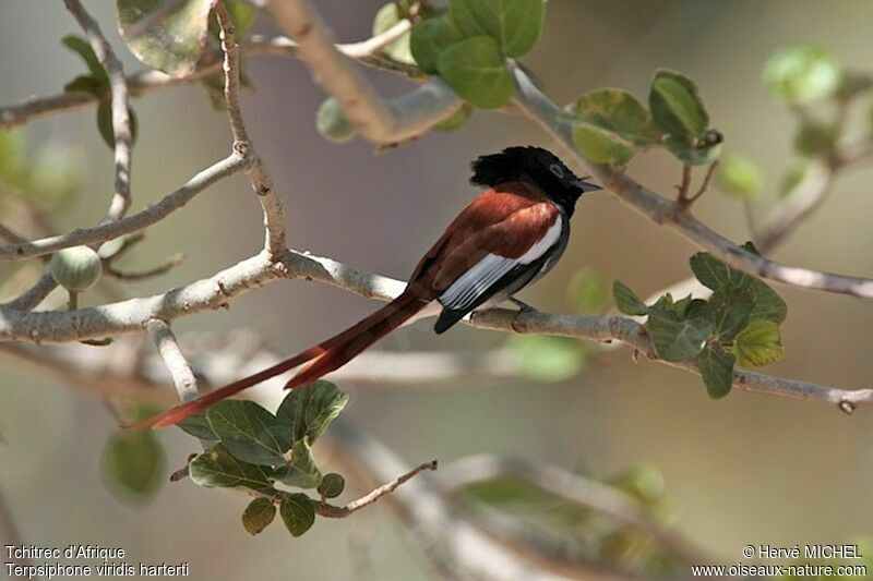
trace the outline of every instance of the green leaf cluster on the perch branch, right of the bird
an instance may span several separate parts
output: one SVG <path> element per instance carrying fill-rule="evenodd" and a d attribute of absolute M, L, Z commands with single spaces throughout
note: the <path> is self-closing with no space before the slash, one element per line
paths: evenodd
<path fill-rule="evenodd" d="M 751 242 L 744 247 L 757 254 Z M 767 283 L 732 268 L 711 254 L 691 257 L 697 280 L 713 290 L 708 300 L 670 293 L 645 304 L 630 288 L 613 283 L 619 311 L 646 316 L 645 329 L 663 361 L 694 362 L 709 396 L 722 398 L 733 383 L 733 368 L 773 363 L 782 358 L 779 325 L 788 306 Z"/>

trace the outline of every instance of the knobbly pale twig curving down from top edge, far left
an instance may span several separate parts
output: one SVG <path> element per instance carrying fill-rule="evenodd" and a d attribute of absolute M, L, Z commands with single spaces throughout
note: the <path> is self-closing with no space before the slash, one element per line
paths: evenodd
<path fill-rule="evenodd" d="M 121 61 L 118 60 L 112 47 L 100 32 L 97 21 L 91 17 L 79 0 L 64 0 L 64 4 L 88 37 L 88 43 L 91 48 L 94 49 L 97 60 L 106 69 L 106 74 L 109 76 L 109 86 L 112 89 L 116 182 L 112 202 L 106 213 L 104 222 L 117 222 L 124 217 L 131 203 L 130 167 L 133 136 L 131 133 L 128 80 L 124 76 Z"/>

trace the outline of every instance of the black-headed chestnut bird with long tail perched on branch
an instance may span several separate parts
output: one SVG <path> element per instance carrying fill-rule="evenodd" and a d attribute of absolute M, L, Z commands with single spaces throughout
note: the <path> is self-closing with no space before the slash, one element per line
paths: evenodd
<path fill-rule="evenodd" d="M 129 427 L 177 424 L 210 406 L 306 364 L 286 389 L 309 385 L 348 363 L 394 329 L 436 315 L 443 334 L 465 316 L 511 300 L 558 263 L 576 202 L 599 185 L 577 178 L 554 154 L 512 146 L 470 164 L 470 183 L 486 190 L 419 261 L 403 293 L 346 330 L 254 375 Z"/>

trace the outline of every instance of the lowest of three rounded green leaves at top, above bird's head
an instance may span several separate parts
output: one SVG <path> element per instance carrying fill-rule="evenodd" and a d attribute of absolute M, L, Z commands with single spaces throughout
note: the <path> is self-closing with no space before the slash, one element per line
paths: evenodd
<path fill-rule="evenodd" d="M 436 70 L 461 97 L 482 109 L 497 109 L 512 97 L 512 76 L 497 40 L 474 36 L 455 43 L 436 58 Z"/>

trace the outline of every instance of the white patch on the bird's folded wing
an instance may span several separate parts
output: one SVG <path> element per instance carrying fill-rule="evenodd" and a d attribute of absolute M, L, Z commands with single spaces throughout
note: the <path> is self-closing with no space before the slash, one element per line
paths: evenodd
<path fill-rule="evenodd" d="M 517 258 L 506 258 L 498 254 L 488 254 L 461 275 L 440 295 L 440 303 L 446 308 L 461 311 L 468 308 L 488 289 L 515 266 L 527 265 L 542 256 L 561 238 L 561 219 L 546 231 L 546 234 L 533 244 L 527 252 Z"/>

